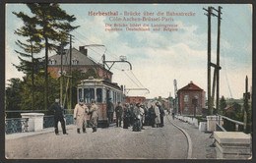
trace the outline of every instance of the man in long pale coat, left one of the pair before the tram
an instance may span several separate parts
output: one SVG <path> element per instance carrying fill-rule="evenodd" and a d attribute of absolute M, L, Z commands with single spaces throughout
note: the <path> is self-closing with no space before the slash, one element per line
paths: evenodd
<path fill-rule="evenodd" d="M 80 99 L 74 109 L 74 119 L 76 120 L 77 133 L 80 134 L 81 129 L 86 133 L 88 107 L 84 104 L 84 100 Z"/>

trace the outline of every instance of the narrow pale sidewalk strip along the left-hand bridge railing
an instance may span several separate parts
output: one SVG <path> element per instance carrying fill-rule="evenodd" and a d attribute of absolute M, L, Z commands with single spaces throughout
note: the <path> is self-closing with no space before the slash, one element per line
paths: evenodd
<path fill-rule="evenodd" d="M 75 125 L 67 125 L 66 126 L 67 131 L 73 130 L 75 128 L 76 128 Z M 62 130 L 60 128 L 59 133 L 61 133 L 61 132 L 62 132 Z M 26 136 L 37 136 L 37 135 L 43 135 L 43 134 L 46 134 L 46 133 L 54 133 L 54 128 L 45 128 L 42 131 L 38 131 L 38 132 L 15 133 L 15 134 L 11 134 L 11 135 L 5 135 L 5 139 L 9 140 L 9 139 L 22 138 L 22 137 L 26 137 Z"/>

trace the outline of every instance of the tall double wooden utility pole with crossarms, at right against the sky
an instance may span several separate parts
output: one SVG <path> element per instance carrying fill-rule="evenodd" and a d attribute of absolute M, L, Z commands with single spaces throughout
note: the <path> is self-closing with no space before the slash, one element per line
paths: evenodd
<path fill-rule="evenodd" d="M 220 40 L 221 40 L 221 9 L 222 7 L 219 6 L 219 10 L 215 9 L 214 7 L 209 6 L 208 10 L 203 8 L 208 14 L 208 60 L 207 60 L 207 91 L 208 91 L 208 110 L 209 114 L 213 115 L 214 113 L 214 100 L 215 100 L 215 90 L 217 89 L 216 93 L 216 107 L 219 112 L 219 98 L 220 98 L 220 70 L 222 69 L 220 66 Z M 218 12 L 218 16 L 214 14 L 213 10 Z M 217 37 L 217 64 L 212 63 L 211 61 L 211 16 L 218 17 L 218 37 Z M 213 79 L 213 88 L 212 88 L 212 95 L 211 95 L 211 67 L 214 67 L 214 79 Z"/>

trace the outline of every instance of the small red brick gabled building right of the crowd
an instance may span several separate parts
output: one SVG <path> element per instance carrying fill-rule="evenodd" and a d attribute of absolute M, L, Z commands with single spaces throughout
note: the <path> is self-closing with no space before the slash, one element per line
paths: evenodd
<path fill-rule="evenodd" d="M 181 115 L 202 115 L 205 108 L 205 91 L 192 81 L 180 88 L 178 108 Z"/>

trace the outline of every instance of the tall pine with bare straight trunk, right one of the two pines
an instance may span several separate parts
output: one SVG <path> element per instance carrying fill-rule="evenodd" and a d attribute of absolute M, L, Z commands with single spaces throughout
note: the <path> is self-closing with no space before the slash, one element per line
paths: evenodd
<path fill-rule="evenodd" d="M 57 3 L 30 3 L 33 18 L 39 35 L 44 40 L 45 67 L 44 67 L 44 109 L 48 107 L 48 51 L 56 49 L 56 41 L 66 41 L 70 31 L 77 27 L 70 24 L 76 20 L 74 15 L 68 15 Z"/>

